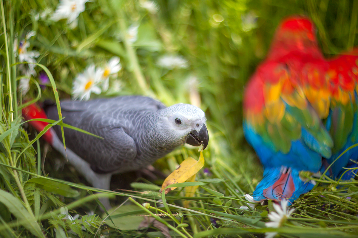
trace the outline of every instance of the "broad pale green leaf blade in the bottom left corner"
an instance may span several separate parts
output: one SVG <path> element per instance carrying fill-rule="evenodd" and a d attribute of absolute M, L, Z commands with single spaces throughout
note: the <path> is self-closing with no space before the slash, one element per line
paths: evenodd
<path fill-rule="evenodd" d="M 0 202 L 4 203 L 4 205 L 19 221 L 23 221 L 23 226 L 34 236 L 45 238 L 35 217 L 26 210 L 19 199 L 15 198 L 8 192 L 0 190 Z"/>

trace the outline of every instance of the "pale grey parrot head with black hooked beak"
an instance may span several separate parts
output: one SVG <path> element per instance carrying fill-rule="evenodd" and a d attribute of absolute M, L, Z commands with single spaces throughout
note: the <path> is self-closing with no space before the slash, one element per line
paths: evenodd
<path fill-rule="evenodd" d="M 158 129 L 170 145 L 188 143 L 207 147 L 208 130 L 205 126 L 205 113 L 190 104 L 179 103 L 160 110 Z"/>

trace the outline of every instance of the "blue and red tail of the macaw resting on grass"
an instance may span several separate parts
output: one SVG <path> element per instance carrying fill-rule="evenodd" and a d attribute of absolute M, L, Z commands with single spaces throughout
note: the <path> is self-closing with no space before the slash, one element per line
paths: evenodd
<path fill-rule="evenodd" d="M 253 192 L 253 199 L 255 201 L 286 199 L 292 204 L 301 194 L 309 192 L 313 187 L 313 182 L 303 181 L 296 169 L 284 166 L 265 168 L 263 178 Z"/>

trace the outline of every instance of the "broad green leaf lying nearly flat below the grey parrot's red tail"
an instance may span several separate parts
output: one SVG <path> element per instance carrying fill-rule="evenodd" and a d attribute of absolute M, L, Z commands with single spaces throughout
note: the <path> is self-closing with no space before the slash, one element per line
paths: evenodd
<path fill-rule="evenodd" d="M 48 192 L 62 195 L 64 197 L 73 198 L 79 195 L 77 190 L 72 189 L 67 184 L 55 182 L 45 178 L 32 178 L 27 182 L 33 182 L 38 184 L 38 187 L 45 189 Z"/>

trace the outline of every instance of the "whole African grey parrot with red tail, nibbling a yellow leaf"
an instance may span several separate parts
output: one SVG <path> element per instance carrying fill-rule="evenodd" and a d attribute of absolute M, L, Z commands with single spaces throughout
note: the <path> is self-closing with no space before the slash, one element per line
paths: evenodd
<path fill-rule="evenodd" d="M 64 123 L 103 137 L 64 128 L 65 151 L 59 126 L 44 135 L 96 188 L 109 189 L 112 174 L 145 168 L 184 143 L 205 148 L 209 141 L 204 112 L 190 104 L 166 107 L 149 97 L 121 96 L 62 101 L 61 110 Z M 44 111 L 59 119 L 56 105 L 45 105 Z M 45 117 L 41 113 L 34 105 L 23 109 L 26 120 Z M 46 125 L 32 124 L 37 130 Z M 102 201 L 110 207 L 108 199 Z"/>

